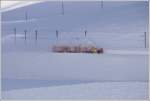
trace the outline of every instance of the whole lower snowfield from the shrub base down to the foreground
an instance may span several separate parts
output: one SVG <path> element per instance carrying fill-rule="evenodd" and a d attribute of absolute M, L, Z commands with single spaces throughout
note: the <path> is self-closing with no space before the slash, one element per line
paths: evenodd
<path fill-rule="evenodd" d="M 6 53 L 2 97 L 147 99 L 148 55 L 137 54 Z"/>

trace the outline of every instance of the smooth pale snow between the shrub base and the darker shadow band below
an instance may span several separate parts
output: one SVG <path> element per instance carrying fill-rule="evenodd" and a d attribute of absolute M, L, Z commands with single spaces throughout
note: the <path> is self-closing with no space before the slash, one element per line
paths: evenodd
<path fill-rule="evenodd" d="M 9 79 L 147 81 L 147 54 L 11 52 L 2 54 Z"/>

